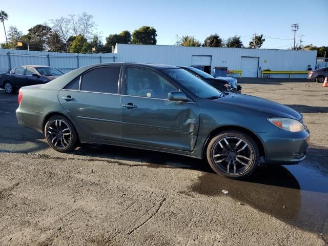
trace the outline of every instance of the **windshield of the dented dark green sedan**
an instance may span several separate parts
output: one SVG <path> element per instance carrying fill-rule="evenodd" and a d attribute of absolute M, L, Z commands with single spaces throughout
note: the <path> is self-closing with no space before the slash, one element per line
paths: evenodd
<path fill-rule="evenodd" d="M 162 71 L 200 98 L 220 97 L 223 94 L 184 69 L 174 68 Z"/>

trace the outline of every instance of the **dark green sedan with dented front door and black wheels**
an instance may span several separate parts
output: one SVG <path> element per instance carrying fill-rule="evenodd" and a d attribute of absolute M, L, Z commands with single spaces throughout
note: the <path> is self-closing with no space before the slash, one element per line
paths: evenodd
<path fill-rule="evenodd" d="M 59 152 L 79 142 L 207 158 L 228 177 L 259 162 L 295 164 L 309 130 L 297 111 L 262 98 L 222 93 L 175 66 L 108 63 L 23 87 L 20 125 L 44 132 Z"/>

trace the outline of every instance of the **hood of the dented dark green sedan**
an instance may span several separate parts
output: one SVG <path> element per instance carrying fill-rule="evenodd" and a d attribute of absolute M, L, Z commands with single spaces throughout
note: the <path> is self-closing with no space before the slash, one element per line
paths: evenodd
<path fill-rule="evenodd" d="M 300 121 L 303 118 L 299 112 L 290 107 L 256 96 L 230 93 L 217 101 L 267 113 L 269 117 L 292 118 Z"/>

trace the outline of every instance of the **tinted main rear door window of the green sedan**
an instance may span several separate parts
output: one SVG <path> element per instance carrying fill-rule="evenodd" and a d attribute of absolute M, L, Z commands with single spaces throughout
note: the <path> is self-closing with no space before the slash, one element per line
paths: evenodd
<path fill-rule="evenodd" d="M 93 69 L 81 78 L 81 91 L 118 93 L 120 67 L 104 67 Z"/>

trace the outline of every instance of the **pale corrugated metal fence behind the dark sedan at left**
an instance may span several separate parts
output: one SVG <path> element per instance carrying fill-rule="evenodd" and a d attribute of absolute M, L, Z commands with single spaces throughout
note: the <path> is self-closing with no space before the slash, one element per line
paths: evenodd
<path fill-rule="evenodd" d="M 76 54 L 0 49 L 0 73 L 6 73 L 23 65 L 51 66 L 67 73 L 79 67 L 115 61 L 117 61 L 116 53 Z"/>

